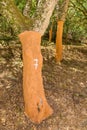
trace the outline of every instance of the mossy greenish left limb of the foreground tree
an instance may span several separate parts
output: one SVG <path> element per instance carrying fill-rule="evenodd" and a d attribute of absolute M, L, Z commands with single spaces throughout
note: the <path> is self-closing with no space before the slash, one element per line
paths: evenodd
<path fill-rule="evenodd" d="M 26 30 L 29 20 L 20 13 L 13 0 L 0 0 L 0 14 L 10 23 L 15 32 Z"/>

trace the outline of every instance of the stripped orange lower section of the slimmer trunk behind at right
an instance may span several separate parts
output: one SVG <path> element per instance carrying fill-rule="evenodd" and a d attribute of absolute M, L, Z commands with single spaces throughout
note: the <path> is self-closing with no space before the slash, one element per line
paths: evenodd
<path fill-rule="evenodd" d="M 63 34 L 63 21 L 58 21 L 57 25 L 57 33 L 56 33 L 56 61 L 60 62 L 62 60 L 62 52 L 63 52 L 63 45 L 62 45 L 62 34 Z"/>

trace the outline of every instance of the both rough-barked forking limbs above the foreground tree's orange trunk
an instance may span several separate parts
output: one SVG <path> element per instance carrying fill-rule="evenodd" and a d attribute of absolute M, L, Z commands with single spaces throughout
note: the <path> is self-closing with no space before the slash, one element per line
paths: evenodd
<path fill-rule="evenodd" d="M 58 0 L 42 0 L 38 4 L 32 20 L 25 18 L 17 9 L 13 0 L 0 1 L 0 14 L 10 21 L 12 28 L 17 32 L 24 30 L 34 30 L 44 34 L 48 27 L 50 17 Z M 31 22 L 32 21 L 32 22 Z"/>

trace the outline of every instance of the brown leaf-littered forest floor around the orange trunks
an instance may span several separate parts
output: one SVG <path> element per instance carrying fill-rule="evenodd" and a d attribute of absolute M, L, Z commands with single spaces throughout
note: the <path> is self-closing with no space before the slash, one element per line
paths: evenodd
<path fill-rule="evenodd" d="M 0 130 L 87 130 L 87 45 L 41 47 L 43 83 L 54 113 L 36 125 L 24 115 L 21 47 L 0 46 Z"/>

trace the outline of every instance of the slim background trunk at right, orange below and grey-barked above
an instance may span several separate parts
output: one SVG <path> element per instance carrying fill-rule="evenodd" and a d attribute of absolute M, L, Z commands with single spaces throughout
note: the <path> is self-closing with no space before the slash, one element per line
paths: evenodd
<path fill-rule="evenodd" d="M 68 5 L 70 0 L 64 0 L 62 5 L 62 10 L 60 18 L 57 23 L 57 36 L 56 36 L 56 61 L 60 62 L 62 60 L 63 46 L 62 46 L 62 36 L 63 36 L 63 25 L 66 18 Z"/>

